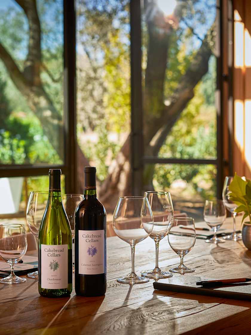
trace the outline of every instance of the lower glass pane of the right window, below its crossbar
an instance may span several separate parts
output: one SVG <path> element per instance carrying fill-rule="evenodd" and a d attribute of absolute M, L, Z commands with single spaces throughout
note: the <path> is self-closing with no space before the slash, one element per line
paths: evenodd
<path fill-rule="evenodd" d="M 152 183 L 148 175 L 153 175 Z M 216 198 L 215 165 L 147 164 L 144 169 L 144 190 L 171 192 L 173 209 L 203 220 L 206 199 Z"/>

